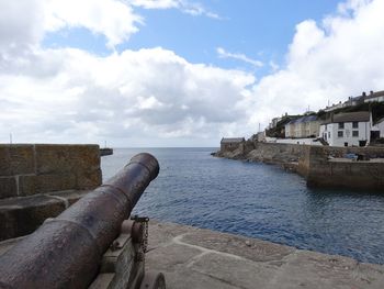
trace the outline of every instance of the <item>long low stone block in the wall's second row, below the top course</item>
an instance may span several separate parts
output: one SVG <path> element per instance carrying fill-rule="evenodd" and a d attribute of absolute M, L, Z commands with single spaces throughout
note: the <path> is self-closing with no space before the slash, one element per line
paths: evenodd
<path fill-rule="evenodd" d="M 76 189 L 76 175 L 71 173 L 20 176 L 19 196 L 31 196 L 35 193 Z"/>

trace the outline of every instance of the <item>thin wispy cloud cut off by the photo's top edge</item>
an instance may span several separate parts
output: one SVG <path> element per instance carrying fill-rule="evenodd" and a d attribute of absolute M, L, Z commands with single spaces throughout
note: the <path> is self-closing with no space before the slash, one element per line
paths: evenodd
<path fill-rule="evenodd" d="M 187 0 L 128 0 L 128 3 L 145 9 L 179 9 L 183 13 L 193 16 L 204 15 L 212 19 L 221 19 L 219 15 L 204 8 L 203 4 Z"/>

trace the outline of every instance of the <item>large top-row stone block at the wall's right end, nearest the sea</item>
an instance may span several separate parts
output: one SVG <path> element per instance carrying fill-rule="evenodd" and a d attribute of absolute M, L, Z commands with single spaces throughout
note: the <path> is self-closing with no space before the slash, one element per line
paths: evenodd
<path fill-rule="evenodd" d="M 36 145 L 39 174 L 93 171 L 100 168 L 98 145 Z"/>

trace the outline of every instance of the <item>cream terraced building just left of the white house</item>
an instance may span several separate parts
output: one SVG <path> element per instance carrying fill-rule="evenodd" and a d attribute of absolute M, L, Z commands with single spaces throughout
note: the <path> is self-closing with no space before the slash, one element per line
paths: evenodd
<path fill-rule="evenodd" d="M 320 123 L 316 115 L 306 115 L 285 124 L 286 138 L 316 137 L 319 133 Z"/>

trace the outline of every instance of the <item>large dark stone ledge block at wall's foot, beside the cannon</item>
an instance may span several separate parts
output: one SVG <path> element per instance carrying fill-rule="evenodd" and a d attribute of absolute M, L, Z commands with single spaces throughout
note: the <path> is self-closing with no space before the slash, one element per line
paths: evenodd
<path fill-rule="evenodd" d="M 0 201 L 0 241 L 35 231 L 47 218 L 65 210 L 65 202 L 47 196 L 12 198 Z"/>

